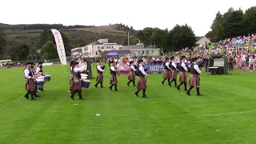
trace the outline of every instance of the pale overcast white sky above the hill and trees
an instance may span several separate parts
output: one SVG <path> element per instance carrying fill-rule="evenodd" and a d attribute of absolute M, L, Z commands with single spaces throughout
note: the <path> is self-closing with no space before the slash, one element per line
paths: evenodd
<path fill-rule="evenodd" d="M 210 30 L 218 10 L 246 10 L 255 0 L 4 0 L 0 22 L 7 24 L 62 23 L 63 25 L 106 26 L 114 23 L 172 29 L 188 24 L 197 36 Z"/>

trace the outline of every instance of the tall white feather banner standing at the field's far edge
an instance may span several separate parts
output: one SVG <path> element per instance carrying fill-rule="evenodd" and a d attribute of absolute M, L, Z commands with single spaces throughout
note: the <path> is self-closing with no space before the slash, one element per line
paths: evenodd
<path fill-rule="evenodd" d="M 65 52 L 65 47 L 62 40 L 62 34 L 55 29 L 52 29 L 51 32 L 54 34 L 56 47 L 58 50 L 58 57 L 61 60 L 62 65 L 66 65 L 66 52 Z"/>

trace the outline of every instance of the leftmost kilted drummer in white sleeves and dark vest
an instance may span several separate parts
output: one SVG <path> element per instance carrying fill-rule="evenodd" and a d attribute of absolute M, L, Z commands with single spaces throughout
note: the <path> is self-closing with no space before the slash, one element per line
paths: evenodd
<path fill-rule="evenodd" d="M 35 100 L 34 95 L 35 95 L 35 83 L 34 83 L 34 75 L 30 71 L 32 62 L 27 62 L 26 63 L 26 68 L 24 70 L 24 77 L 26 78 L 26 90 L 27 93 L 24 95 L 26 99 L 29 99 L 29 94 L 31 95 L 31 100 Z"/>

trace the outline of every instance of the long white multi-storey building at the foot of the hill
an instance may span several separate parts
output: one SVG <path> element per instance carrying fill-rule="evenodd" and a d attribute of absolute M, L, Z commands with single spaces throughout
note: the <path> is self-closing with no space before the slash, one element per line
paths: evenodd
<path fill-rule="evenodd" d="M 102 52 L 111 50 L 119 50 L 119 45 L 117 43 L 92 42 L 86 46 L 72 49 L 71 56 L 73 58 L 95 58 L 100 57 Z"/>

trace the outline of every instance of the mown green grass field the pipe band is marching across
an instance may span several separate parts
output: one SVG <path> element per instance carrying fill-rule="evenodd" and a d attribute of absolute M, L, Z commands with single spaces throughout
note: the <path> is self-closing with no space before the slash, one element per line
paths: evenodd
<path fill-rule="evenodd" d="M 203 97 L 162 86 L 162 74 L 150 74 L 148 98 L 137 98 L 127 77 L 118 77 L 118 92 L 110 91 L 106 72 L 106 88 L 94 88 L 94 78 L 82 90 L 85 100 L 72 101 L 66 68 L 44 69 L 52 80 L 38 101 L 22 97 L 22 68 L 0 69 L 1 144 L 256 143 L 254 73 L 202 74 Z"/>

